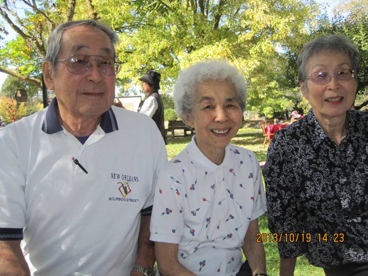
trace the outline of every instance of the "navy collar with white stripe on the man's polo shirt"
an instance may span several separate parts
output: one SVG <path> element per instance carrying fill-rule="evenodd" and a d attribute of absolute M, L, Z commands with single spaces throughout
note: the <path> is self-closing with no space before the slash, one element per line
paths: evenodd
<path fill-rule="evenodd" d="M 46 116 L 42 123 L 42 131 L 47 134 L 53 134 L 63 130 L 57 118 L 57 100 L 53 98 L 46 110 Z M 116 120 L 115 114 L 111 107 L 101 116 L 101 128 L 105 133 L 113 132 L 118 130 L 118 122 Z"/>

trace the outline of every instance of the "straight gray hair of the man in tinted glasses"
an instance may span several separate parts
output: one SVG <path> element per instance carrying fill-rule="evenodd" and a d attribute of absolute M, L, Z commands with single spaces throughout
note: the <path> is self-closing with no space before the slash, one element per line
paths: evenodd
<path fill-rule="evenodd" d="M 60 25 L 57 25 L 56 28 L 53 29 L 53 31 L 50 33 L 49 40 L 47 42 L 47 52 L 45 56 L 46 61 L 50 61 L 53 65 L 53 68 L 56 67 L 56 59 L 59 56 L 59 53 L 62 49 L 62 34 L 63 31 L 72 27 L 76 26 L 91 26 L 95 27 L 97 29 L 102 30 L 107 34 L 107 36 L 110 38 L 111 46 L 112 46 L 112 52 L 114 57 L 116 57 L 116 51 L 115 51 L 115 45 L 119 43 L 119 39 L 117 34 L 108 26 L 105 24 L 99 23 L 96 20 L 79 20 L 79 21 L 69 21 L 62 23 Z"/>

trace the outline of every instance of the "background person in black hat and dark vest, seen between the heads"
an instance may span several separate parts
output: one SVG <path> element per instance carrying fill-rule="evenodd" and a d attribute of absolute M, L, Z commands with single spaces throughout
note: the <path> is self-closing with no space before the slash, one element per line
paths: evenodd
<path fill-rule="evenodd" d="M 162 138 L 166 143 L 166 133 L 163 117 L 163 102 L 158 90 L 160 89 L 161 74 L 149 69 L 139 80 L 142 81 L 143 92 L 146 98 L 139 103 L 138 112 L 150 116 L 156 123 Z"/>

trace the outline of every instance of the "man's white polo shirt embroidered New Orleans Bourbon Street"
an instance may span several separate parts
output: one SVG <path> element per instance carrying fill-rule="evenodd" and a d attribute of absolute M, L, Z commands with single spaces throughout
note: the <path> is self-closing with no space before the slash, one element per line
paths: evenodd
<path fill-rule="evenodd" d="M 167 163 L 162 136 L 147 116 L 112 106 L 81 145 L 55 103 L 0 130 L 0 239 L 24 229 L 34 275 L 129 276 L 140 211 Z"/>

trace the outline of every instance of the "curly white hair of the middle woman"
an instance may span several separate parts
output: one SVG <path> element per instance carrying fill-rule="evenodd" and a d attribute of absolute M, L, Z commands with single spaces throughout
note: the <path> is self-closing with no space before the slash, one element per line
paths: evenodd
<path fill-rule="evenodd" d="M 208 80 L 222 81 L 234 85 L 237 100 L 242 111 L 247 99 L 247 83 L 236 67 L 224 60 L 206 60 L 197 62 L 180 72 L 174 85 L 175 111 L 182 119 L 184 114 L 192 118 L 192 111 L 198 86 Z"/>

